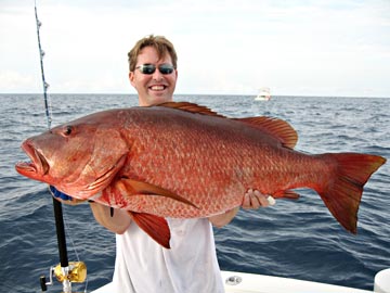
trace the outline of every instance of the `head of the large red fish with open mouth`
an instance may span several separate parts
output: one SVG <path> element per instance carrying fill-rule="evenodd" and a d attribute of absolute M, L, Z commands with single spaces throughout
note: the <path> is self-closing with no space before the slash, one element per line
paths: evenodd
<path fill-rule="evenodd" d="M 16 170 L 74 198 L 91 198 L 110 183 L 129 153 L 112 116 L 92 114 L 28 138 L 22 149 L 30 162 L 17 163 Z"/>

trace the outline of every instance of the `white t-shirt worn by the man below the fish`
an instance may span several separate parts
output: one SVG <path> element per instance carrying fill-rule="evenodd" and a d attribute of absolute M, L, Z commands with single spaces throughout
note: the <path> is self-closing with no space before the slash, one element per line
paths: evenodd
<path fill-rule="evenodd" d="M 115 293 L 224 292 L 208 219 L 167 219 L 170 250 L 134 222 L 116 235 Z"/>

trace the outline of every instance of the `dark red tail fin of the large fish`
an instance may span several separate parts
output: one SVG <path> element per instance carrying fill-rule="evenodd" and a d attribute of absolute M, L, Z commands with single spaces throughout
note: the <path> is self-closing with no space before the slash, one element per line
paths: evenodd
<path fill-rule="evenodd" d="M 316 189 L 334 217 L 348 231 L 356 233 L 358 209 L 363 187 L 386 158 L 378 155 L 339 153 L 324 154 L 336 160 L 336 174 L 326 187 Z"/>

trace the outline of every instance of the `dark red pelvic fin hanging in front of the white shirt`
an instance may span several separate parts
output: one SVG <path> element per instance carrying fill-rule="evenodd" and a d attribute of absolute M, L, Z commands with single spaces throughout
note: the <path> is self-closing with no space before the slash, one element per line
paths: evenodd
<path fill-rule="evenodd" d="M 158 244 L 167 250 L 170 249 L 170 229 L 165 218 L 145 213 L 128 212 L 128 214 L 131 219 Z"/>

